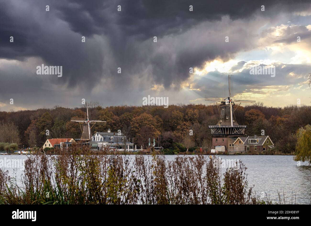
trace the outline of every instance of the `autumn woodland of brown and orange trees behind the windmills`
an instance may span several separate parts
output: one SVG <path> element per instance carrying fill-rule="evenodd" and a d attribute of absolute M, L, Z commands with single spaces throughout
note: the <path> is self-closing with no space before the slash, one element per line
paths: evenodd
<path fill-rule="evenodd" d="M 36 110 L 0 112 L 0 142 L 16 143 L 20 147 L 40 147 L 46 139 L 80 138 L 81 129 L 70 118 L 84 118 L 86 108 L 40 108 Z M 90 118 L 106 121 L 105 125 L 95 125 L 95 131 L 126 131 L 130 141 L 138 147 L 148 147 L 149 138 L 156 146 L 165 148 L 183 145 L 179 149 L 211 146 L 211 131 L 208 125 L 216 125 L 219 112 L 216 105 L 177 104 L 163 106 L 110 106 L 93 102 L 89 104 Z M 311 124 L 311 107 L 289 105 L 267 107 L 262 103 L 254 106 L 238 107 L 236 121 L 247 125 L 247 135 L 268 135 L 276 149 L 283 153 L 295 151 L 299 128 Z M 49 131 L 47 136 L 47 130 Z M 189 135 L 192 131 L 191 136 Z"/>

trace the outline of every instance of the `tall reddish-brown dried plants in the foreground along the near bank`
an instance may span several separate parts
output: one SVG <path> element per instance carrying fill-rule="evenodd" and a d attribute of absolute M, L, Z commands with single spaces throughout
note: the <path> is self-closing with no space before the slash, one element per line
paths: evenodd
<path fill-rule="evenodd" d="M 73 146 L 30 155 L 22 186 L 0 169 L 2 204 L 266 204 L 248 187 L 245 166 L 222 172 L 206 155 L 116 155 Z"/>

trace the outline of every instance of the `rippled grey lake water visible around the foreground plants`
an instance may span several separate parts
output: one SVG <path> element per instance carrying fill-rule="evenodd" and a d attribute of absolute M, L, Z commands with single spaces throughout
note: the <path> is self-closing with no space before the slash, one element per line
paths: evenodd
<path fill-rule="evenodd" d="M 132 157 L 134 157 L 132 155 Z M 148 156 L 146 155 L 146 158 Z M 168 161 L 176 155 L 166 155 Z M 292 192 L 296 194 L 296 204 L 311 204 L 311 166 L 307 162 L 297 164 L 292 155 L 217 155 L 221 159 L 239 159 L 247 167 L 249 186 L 255 185 L 254 191 L 261 196 L 266 192 L 270 199 L 278 199 L 277 191 L 285 193 L 285 201 L 289 202 Z M 25 160 L 26 155 L 0 155 L 4 160 Z M 3 161 L 1 161 L 3 163 Z M 21 168 L 7 167 L 10 176 L 16 178 L 17 185 L 21 185 Z M 224 171 L 224 170 L 223 170 Z"/>

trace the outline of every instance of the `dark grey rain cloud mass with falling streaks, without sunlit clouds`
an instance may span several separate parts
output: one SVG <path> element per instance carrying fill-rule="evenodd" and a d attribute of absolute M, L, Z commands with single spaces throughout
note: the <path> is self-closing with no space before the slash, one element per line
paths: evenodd
<path fill-rule="evenodd" d="M 193 12 L 189 5 L 193 5 Z M 261 5 L 265 5 L 265 12 L 260 11 Z M 103 85 L 102 90 L 133 90 L 138 89 L 137 84 L 148 89 L 154 83 L 178 87 L 189 77 L 189 67 L 201 67 L 215 58 L 227 60 L 252 46 L 238 37 L 233 45 L 224 46 L 219 40 L 224 40 L 226 31 L 209 36 L 209 29 L 217 34 L 216 28 L 202 23 L 221 21 L 223 16 L 231 20 L 259 13 L 273 17 L 308 5 L 308 1 L 1 1 L 0 59 L 35 58 L 27 70 L 29 75 L 18 72 L 16 81 L 20 87 L 33 87 L 34 93 L 39 90 L 40 96 L 44 96 L 44 89 L 35 86 L 49 84 L 66 84 L 81 94 L 90 93 L 103 81 L 109 85 Z M 187 34 L 189 31 L 193 33 Z M 230 32 L 247 37 L 247 28 L 232 28 Z M 14 43 L 9 42 L 10 36 Z M 86 37 L 86 43 L 81 43 L 81 36 Z M 157 43 L 153 43 L 153 36 L 157 36 Z M 41 63 L 63 66 L 63 77 L 36 79 L 35 67 Z M 122 74 L 117 74 L 118 67 Z M 0 70 L 2 78 L 10 79 L 5 71 Z M 11 72 L 14 74 L 14 68 Z M 149 80 L 143 79 L 146 74 Z M 7 85 L 0 87 L 4 93 L 10 92 Z M 22 94 L 21 90 L 25 89 L 15 92 Z"/>

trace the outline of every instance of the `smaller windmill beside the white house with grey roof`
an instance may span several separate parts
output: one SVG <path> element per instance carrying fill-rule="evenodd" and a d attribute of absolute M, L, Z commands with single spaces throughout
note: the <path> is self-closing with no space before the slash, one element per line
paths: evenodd
<path fill-rule="evenodd" d="M 91 128 L 97 125 L 104 125 L 106 121 L 99 121 L 99 120 L 90 120 L 89 118 L 89 108 L 88 104 L 86 104 L 86 117 L 87 118 L 71 118 L 70 121 L 72 122 L 79 122 L 80 129 L 82 132 L 81 140 L 89 141 L 91 140 Z"/>

